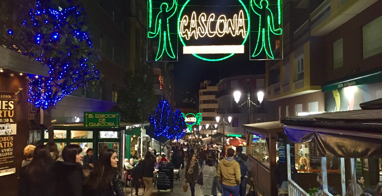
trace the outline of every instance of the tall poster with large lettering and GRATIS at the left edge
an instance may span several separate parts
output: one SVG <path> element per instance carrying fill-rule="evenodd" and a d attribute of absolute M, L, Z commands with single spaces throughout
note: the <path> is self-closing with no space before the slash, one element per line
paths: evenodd
<path fill-rule="evenodd" d="M 15 93 L 0 92 L 0 176 L 16 172 L 13 138 L 16 135 Z"/>

